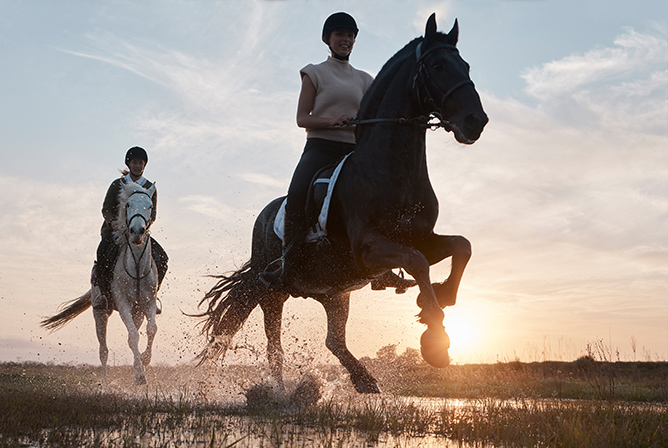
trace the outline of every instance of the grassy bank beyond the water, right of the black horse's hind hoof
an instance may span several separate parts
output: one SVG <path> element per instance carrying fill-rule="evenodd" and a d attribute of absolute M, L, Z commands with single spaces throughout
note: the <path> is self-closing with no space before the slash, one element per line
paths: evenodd
<path fill-rule="evenodd" d="M 417 351 L 416 351 L 417 352 Z M 668 403 L 668 363 L 509 362 L 434 369 L 410 350 L 366 359 L 384 390 L 443 398 L 533 398 Z"/>

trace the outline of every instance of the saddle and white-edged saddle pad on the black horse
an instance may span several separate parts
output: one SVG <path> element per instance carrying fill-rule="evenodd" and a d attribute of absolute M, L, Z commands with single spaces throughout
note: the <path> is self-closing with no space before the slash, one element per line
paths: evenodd
<path fill-rule="evenodd" d="M 352 154 L 352 153 L 351 153 Z M 343 164 L 350 154 L 347 154 L 339 162 L 328 165 L 316 173 L 309 187 L 308 199 L 306 201 L 306 224 L 308 230 L 305 242 L 317 243 L 327 237 L 327 218 L 329 217 L 329 206 L 334 192 L 334 186 L 339 178 Z M 281 207 L 276 213 L 274 220 L 274 233 L 281 241 L 284 241 L 285 204 L 283 200 Z"/>

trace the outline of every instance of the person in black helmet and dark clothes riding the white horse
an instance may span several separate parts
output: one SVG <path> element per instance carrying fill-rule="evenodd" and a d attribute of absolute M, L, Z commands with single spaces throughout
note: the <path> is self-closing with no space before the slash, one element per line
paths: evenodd
<path fill-rule="evenodd" d="M 94 283 L 100 288 L 100 295 L 93 298 L 93 308 L 94 309 L 110 309 L 111 303 L 108 298 L 111 297 L 111 281 L 114 275 L 114 266 L 116 265 L 116 259 L 118 257 L 119 246 L 114 240 L 113 231 L 118 227 L 119 223 L 116 222 L 118 217 L 118 195 L 121 191 L 123 184 L 134 182 L 141 185 L 144 189 L 151 188 L 153 183 L 146 179 L 144 174 L 144 167 L 148 163 L 148 154 L 144 148 L 139 146 L 134 146 L 128 149 L 125 154 L 125 165 L 127 169 L 122 171 L 123 176 L 114 180 L 107 194 L 104 197 L 104 203 L 102 204 L 102 216 L 104 217 L 104 222 L 102 223 L 102 229 L 100 234 L 102 240 L 97 247 L 97 261 L 95 263 L 95 274 L 94 274 Z M 153 201 L 153 208 L 151 210 L 151 219 L 148 223 L 149 226 L 155 221 L 157 209 L 158 209 L 158 191 L 156 190 L 153 193 L 151 198 Z M 167 272 L 167 253 L 165 250 L 158 244 L 157 241 L 151 237 L 151 255 L 155 264 L 158 268 L 158 288 L 162 280 L 165 278 L 165 273 Z"/>

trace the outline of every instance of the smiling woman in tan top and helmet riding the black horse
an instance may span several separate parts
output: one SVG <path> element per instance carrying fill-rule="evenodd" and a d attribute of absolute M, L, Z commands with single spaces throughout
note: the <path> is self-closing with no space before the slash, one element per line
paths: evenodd
<path fill-rule="evenodd" d="M 288 188 L 283 230 L 283 257 L 273 271 L 260 273 L 267 286 L 288 285 L 294 275 L 299 250 L 306 235 L 306 199 L 313 176 L 323 167 L 340 160 L 355 149 L 355 127 L 346 123 L 357 115 L 360 102 L 373 77 L 354 68 L 350 53 L 357 38 L 357 23 L 345 12 L 330 15 L 322 29 L 322 41 L 331 56 L 299 71 L 302 79 L 297 104 L 297 126 L 307 132 L 304 152 Z M 384 286 L 412 286 L 414 283 L 392 274 L 394 282 Z M 382 285 L 374 289 L 384 289 Z"/>

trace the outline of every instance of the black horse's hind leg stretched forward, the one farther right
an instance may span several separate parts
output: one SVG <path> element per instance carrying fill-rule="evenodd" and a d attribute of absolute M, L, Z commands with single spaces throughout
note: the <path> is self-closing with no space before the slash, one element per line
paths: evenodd
<path fill-rule="evenodd" d="M 327 313 L 327 339 L 325 345 L 339 358 L 350 373 L 350 380 L 355 390 L 361 393 L 380 393 L 376 379 L 366 367 L 353 356 L 346 346 L 346 323 L 350 311 L 350 293 L 317 299 Z"/>

